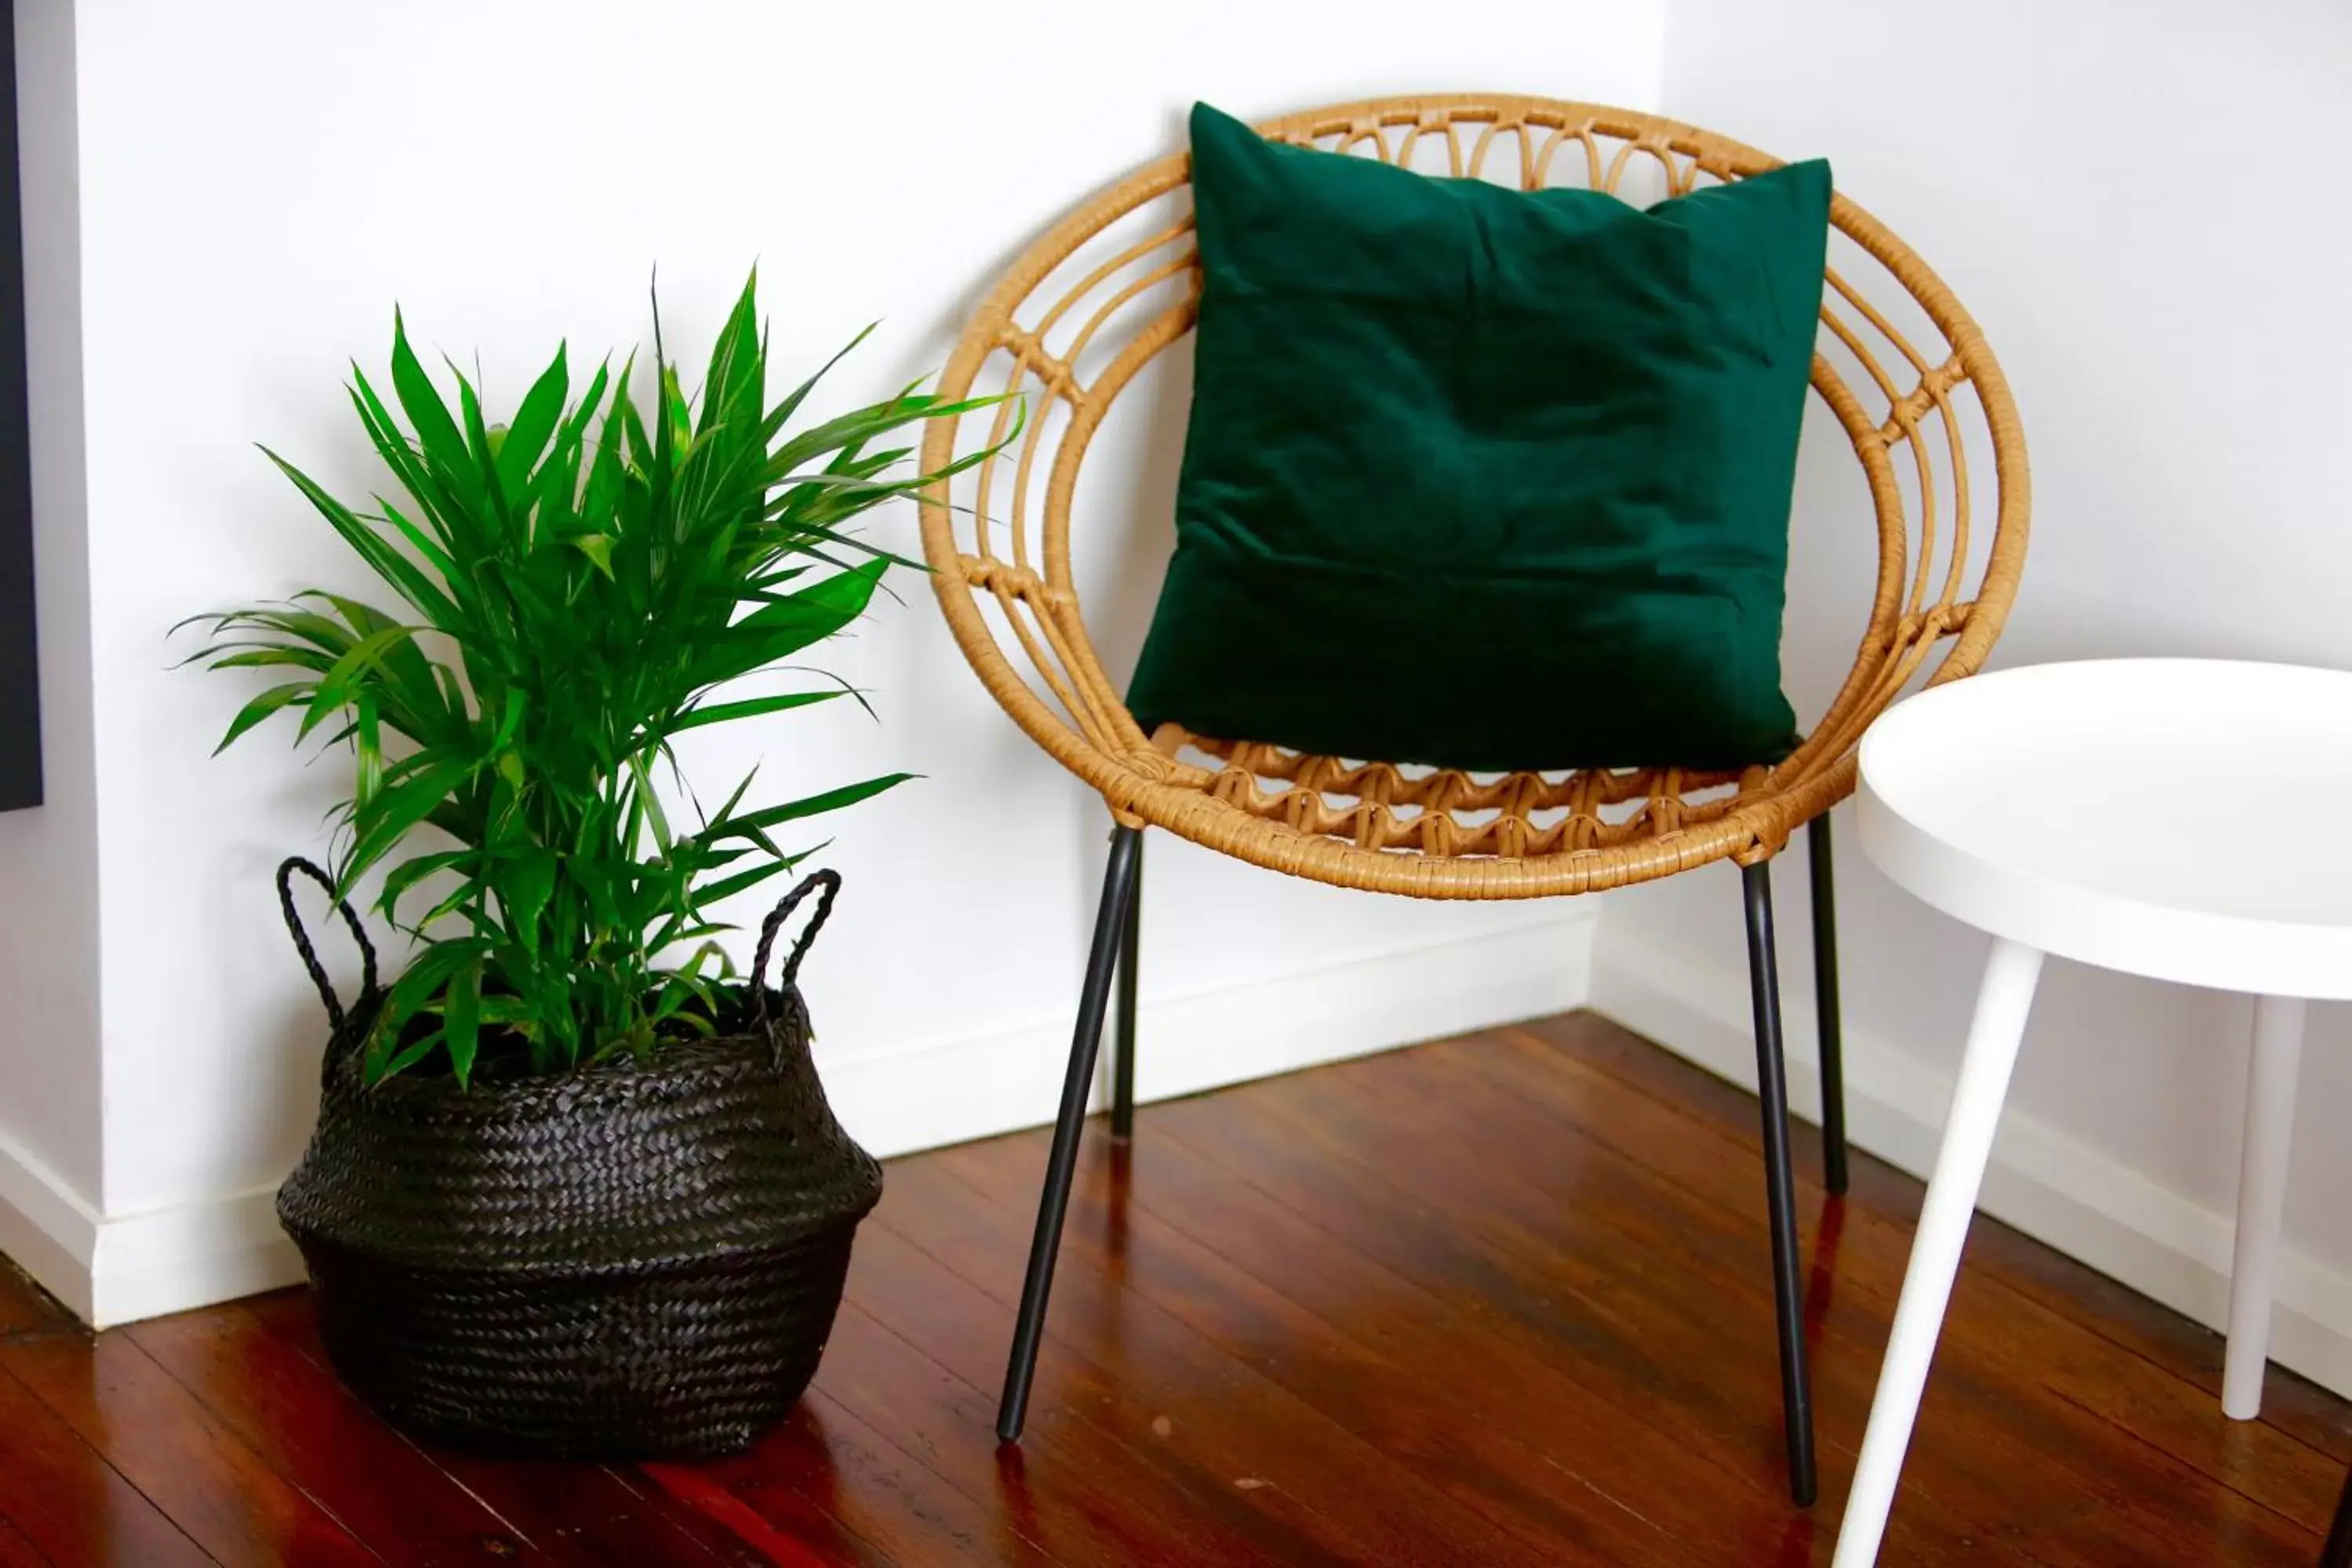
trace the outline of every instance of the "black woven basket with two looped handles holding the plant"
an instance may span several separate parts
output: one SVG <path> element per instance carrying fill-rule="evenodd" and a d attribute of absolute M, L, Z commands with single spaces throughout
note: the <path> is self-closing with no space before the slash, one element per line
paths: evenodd
<path fill-rule="evenodd" d="M 327 877 L 287 860 L 278 896 L 334 1032 L 278 1218 L 353 1392 L 407 1432 L 506 1455 L 701 1458 L 757 1439 L 816 1375 L 851 1234 L 882 1197 L 826 1105 L 797 987 L 840 877 L 816 872 L 760 929 L 750 1032 L 461 1091 L 360 1081 L 376 954 L 339 905 L 367 964 L 346 1013 L 294 872 Z M 769 992 L 776 931 L 814 889 Z"/>

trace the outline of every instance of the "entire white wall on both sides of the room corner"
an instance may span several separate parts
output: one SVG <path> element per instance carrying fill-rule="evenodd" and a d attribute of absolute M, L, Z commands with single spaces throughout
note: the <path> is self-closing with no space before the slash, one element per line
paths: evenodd
<path fill-rule="evenodd" d="M 870 14 L 717 2 L 663 7 L 659 28 L 644 7 L 546 0 L 416 0 L 393 28 L 294 0 L 16 14 L 52 804 L 0 816 L 0 1251 L 96 1316 L 287 1269 L 268 1190 L 308 1121 L 322 1025 L 268 872 L 325 849 L 339 766 L 296 766 L 282 736 L 207 762 L 240 686 L 169 670 L 162 632 L 303 583 L 365 585 L 252 442 L 334 489 L 376 484 L 336 383 L 350 357 L 381 362 L 395 299 L 510 400 L 557 336 L 576 357 L 644 341 L 656 263 L 673 341 L 699 343 L 757 259 L 783 362 L 887 317 L 837 388 L 866 400 L 936 364 L 1044 221 L 1174 146 L 1192 96 L 1265 113 L 1465 85 L 1663 94 L 1743 141 L 1830 155 L 1985 324 L 2037 484 L 1997 663 L 2352 663 L 2333 592 L 2352 531 L 2328 468 L 2352 223 L 2321 158 L 2352 115 L 2336 106 L 2352 19 L 2317 0 L 1987 0 L 1933 19 L 1508 0 L 1477 28 L 1404 0 L 1345 26 L 1214 0 L 1138 35 L 1120 7 L 1042 0 L 894 7 L 887 35 Z M 1867 536 L 1820 435 L 1788 656 L 1813 710 L 1851 651 L 1849 541 Z M 910 538 L 910 520 L 887 527 Z M 962 670 L 927 590 L 906 592 L 830 658 L 882 724 L 816 710 L 703 755 L 729 778 L 760 757 L 779 795 L 927 773 L 821 825 L 849 875 L 809 971 L 821 1060 L 882 1150 L 1047 1112 L 1103 835 Z M 1105 642 L 1131 649 L 1150 592 L 1122 583 L 1115 602 Z M 2185 823 L 2197 809 L 2284 823 L 2310 804 L 2251 792 Z M 1799 860 L 1780 898 L 1802 1058 Z M 1148 1093 L 1588 992 L 1726 1072 L 1745 1063 L 1722 867 L 1477 910 L 1312 889 L 1155 837 L 1145 884 Z M 1922 1166 L 1983 940 L 1877 882 L 1851 842 L 1842 896 L 1856 1128 Z M 2053 966 L 1987 1204 L 2218 1316 L 2244 1032 L 2237 999 Z M 2314 1011 L 2277 1340 L 2343 1387 L 2352 1215 L 2331 1194 L 2352 1152 L 2326 1110 L 2352 1091 L 2347 1044 L 2352 1016 Z"/>

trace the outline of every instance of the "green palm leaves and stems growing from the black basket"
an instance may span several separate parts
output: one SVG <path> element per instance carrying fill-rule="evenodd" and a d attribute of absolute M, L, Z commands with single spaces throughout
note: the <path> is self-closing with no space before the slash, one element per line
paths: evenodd
<path fill-rule="evenodd" d="M 369 1081 L 419 1063 L 459 1084 L 560 1072 L 717 1032 L 736 1004 L 710 907 L 802 858 L 776 830 L 908 778 L 748 806 L 746 776 L 691 823 L 656 790 L 670 778 L 673 804 L 694 799 L 682 733 L 863 703 L 830 677 L 757 693 L 741 682 L 858 618 L 898 562 L 844 529 L 941 475 L 908 477 L 910 449 L 877 442 L 976 407 L 908 388 L 793 430 L 842 355 L 771 407 L 755 292 L 757 277 L 696 397 L 661 350 L 656 310 L 647 411 L 630 397 L 635 357 L 619 376 L 600 364 L 572 397 L 557 348 L 499 425 L 454 367 L 456 409 L 445 402 L 395 313 L 390 388 L 407 428 L 358 367 L 350 402 L 402 501 L 362 512 L 268 454 L 397 607 L 308 590 L 198 616 L 209 644 L 191 663 L 294 672 L 245 703 L 223 750 L 280 712 L 299 715 L 296 745 L 325 733 L 350 748 L 339 893 L 386 865 L 376 910 L 416 940 L 369 1025 Z M 423 827 L 445 842 L 419 844 Z"/>

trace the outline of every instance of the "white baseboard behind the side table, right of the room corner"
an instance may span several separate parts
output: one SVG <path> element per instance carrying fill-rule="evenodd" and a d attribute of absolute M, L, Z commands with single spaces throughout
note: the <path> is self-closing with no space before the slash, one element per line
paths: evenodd
<path fill-rule="evenodd" d="M 1816 1016 L 1809 985 L 1783 983 L 1790 1107 L 1820 1119 Z M 1755 1091 L 1748 976 L 1602 929 L 1590 1006 L 1708 1072 Z M 1882 1039 L 1846 1027 L 1846 1135 L 1856 1147 L 1926 1178 L 1943 1143 L 1952 1079 Z M 2131 1166 L 2011 1110 L 1978 1199 L 2100 1274 L 2185 1316 L 2223 1328 L 2234 1218 L 2159 1187 Z M 2352 1279 L 2281 1248 L 2270 1356 L 2352 1396 Z"/>

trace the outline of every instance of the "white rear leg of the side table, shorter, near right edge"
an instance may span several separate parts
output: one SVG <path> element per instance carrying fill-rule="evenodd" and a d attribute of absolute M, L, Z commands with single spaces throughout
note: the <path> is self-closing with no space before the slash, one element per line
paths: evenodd
<path fill-rule="evenodd" d="M 2286 1204 L 2286 1145 L 2296 1131 L 2303 1013 L 2300 997 L 2263 997 L 2253 1004 L 2246 1145 L 2237 1166 L 2237 1253 L 2230 1260 L 2230 1354 L 2220 1373 L 2220 1413 L 2230 1420 L 2263 1413 L 2270 1276 L 2279 1258 L 2279 1208 Z"/>

